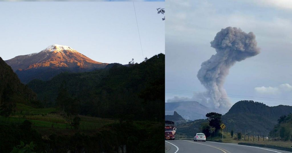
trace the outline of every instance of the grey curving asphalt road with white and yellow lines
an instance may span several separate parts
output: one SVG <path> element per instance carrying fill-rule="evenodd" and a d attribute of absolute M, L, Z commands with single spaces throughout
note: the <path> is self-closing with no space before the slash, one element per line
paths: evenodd
<path fill-rule="evenodd" d="M 194 142 L 190 140 L 165 141 L 166 153 L 291 153 L 283 150 L 237 145 L 235 143 Z"/>

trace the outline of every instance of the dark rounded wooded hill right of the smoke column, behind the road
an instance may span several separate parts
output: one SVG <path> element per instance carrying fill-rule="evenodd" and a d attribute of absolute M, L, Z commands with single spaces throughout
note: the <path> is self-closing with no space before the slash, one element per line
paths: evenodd
<path fill-rule="evenodd" d="M 239 101 L 222 116 L 222 121 L 234 131 L 268 135 L 282 115 L 292 112 L 292 106 L 267 106 L 254 101 Z"/>

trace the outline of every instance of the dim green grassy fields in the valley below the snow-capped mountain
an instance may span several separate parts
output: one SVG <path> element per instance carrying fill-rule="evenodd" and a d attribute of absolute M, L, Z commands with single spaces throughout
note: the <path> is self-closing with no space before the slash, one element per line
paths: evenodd
<path fill-rule="evenodd" d="M 41 129 L 41 131 L 55 131 L 72 128 L 60 115 L 60 110 L 58 108 L 33 108 L 32 106 L 25 105 L 23 103 L 17 103 L 16 108 L 16 112 L 11 117 L 0 117 L 0 123 L 20 124 L 27 119 L 32 122 L 33 127 L 36 129 Z M 92 131 L 105 124 L 117 122 L 113 119 L 89 117 L 84 115 L 79 115 L 79 117 L 81 118 L 81 131 Z"/>

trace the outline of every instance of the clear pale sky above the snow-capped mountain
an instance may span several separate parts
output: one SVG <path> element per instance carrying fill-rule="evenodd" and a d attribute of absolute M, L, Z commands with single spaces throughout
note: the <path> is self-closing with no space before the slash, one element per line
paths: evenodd
<path fill-rule="evenodd" d="M 165 53 L 164 2 L 135 1 L 144 57 Z M 0 57 L 67 45 L 104 63 L 142 62 L 133 2 L 0 2 Z"/>

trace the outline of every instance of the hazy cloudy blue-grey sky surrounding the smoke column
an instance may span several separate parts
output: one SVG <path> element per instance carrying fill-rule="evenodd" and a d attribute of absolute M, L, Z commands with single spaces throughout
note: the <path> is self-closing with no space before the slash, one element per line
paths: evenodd
<path fill-rule="evenodd" d="M 216 53 L 216 33 L 230 26 L 252 31 L 261 50 L 231 67 L 224 88 L 232 104 L 292 104 L 292 1 L 168 0 L 166 11 L 166 102 L 206 91 L 197 73 Z"/>

